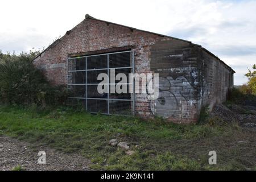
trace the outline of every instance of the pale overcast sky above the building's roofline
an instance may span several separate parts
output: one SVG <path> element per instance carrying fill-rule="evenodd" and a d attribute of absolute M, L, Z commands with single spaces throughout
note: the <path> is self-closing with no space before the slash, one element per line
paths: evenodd
<path fill-rule="evenodd" d="M 220 57 L 236 73 L 234 84 L 256 64 L 256 1 L 1 1 L 0 49 L 47 47 L 85 14 L 190 40 Z"/>

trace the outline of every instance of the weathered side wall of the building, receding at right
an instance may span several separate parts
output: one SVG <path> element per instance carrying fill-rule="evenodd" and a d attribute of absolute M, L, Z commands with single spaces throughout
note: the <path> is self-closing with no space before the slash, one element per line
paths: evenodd
<path fill-rule="evenodd" d="M 209 52 L 201 49 L 199 53 L 199 72 L 201 76 L 201 106 L 208 105 L 212 110 L 216 104 L 225 102 L 233 87 L 233 70 Z M 199 107 L 201 107 L 199 106 Z"/>

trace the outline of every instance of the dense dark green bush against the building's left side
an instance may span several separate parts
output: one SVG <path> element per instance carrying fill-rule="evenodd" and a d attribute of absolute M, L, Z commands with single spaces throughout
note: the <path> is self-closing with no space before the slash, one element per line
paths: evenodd
<path fill-rule="evenodd" d="M 64 104 L 67 89 L 52 86 L 43 72 L 32 63 L 37 52 L 19 55 L 0 51 L 0 103 L 12 105 Z"/>

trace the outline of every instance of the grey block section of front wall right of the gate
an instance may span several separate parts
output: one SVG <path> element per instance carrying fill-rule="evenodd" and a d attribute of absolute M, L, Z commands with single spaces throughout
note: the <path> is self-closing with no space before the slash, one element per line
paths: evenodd
<path fill-rule="evenodd" d="M 151 46 L 150 69 L 160 77 L 155 115 L 174 122 L 197 121 L 198 59 L 191 43 L 166 40 Z"/>

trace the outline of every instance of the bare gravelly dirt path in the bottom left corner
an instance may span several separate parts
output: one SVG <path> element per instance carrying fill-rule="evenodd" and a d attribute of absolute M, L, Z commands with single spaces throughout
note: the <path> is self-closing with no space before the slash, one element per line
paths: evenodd
<path fill-rule="evenodd" d="M 46 164 L 38 164 L 39 151 L 46 152 Z M 46 147 L 31 148 L 30 144 L 0 136 L 0 170 L 21 166 L 26 170 L 88 170 L 90 162 L 78 154 L 63 154 Z"/>

